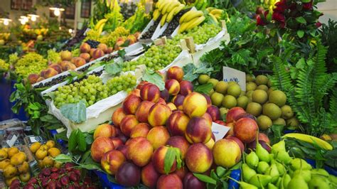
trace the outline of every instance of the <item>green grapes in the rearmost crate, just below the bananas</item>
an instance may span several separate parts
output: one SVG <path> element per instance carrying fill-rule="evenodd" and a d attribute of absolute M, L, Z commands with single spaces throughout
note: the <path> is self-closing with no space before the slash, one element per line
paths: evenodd
<path fill-rule="evenodd" d="M 174 36 L 173 41 L 178 43 L 181 39 L 193 37 L 196 44 L 205 44 L 208 39 L 215 37 L 221 31 L 221 27 L 215 24 L 205 23 L 203 26 L 194 27 L 189 31 Z"/>

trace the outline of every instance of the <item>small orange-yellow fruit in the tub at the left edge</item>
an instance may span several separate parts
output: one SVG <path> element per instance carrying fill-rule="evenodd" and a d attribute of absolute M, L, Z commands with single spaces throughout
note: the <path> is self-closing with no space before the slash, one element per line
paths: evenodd
<path fill-rule="evenodd" d="M 27 182 L 31 178 L 26 153 L 16 147 L 0 149 L 0 171 L 6 179 L 6 185 L 11 185 L 16 179 Z"/>

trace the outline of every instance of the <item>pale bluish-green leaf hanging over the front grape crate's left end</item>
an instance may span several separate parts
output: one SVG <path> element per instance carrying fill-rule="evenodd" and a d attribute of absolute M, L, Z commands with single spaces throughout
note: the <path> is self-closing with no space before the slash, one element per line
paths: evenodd
<path fill-rule="evenodd" d="M 87 120 L 85 102 L 80 101 L 77 104 L 64 104 L 60 107 L 60 112 L 64 117 L 77 124 Z"/>

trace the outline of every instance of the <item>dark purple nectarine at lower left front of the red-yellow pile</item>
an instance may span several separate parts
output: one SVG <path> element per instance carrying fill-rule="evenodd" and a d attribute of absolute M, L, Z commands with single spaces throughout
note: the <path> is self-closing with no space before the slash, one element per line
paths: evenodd
<path fill-rule="evenodd" d="M 126 187 L 137 186 L 141 180 L 141 170 L 134 163 L 125 162 L 116 173 L 117 183 Z"/>

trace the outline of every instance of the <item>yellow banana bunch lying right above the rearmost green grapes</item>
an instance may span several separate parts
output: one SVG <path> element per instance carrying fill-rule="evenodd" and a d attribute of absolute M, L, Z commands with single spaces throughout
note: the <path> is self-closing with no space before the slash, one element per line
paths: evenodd
<path fill-rule="evenodd" d="M 203 23 L 203 21 L 205 21 L 203 11 L 188 11 L 184 13 L 179 20 L 180 28 L 178 30 L 178 33 L 183 33 L 183 31 L 191 30 L 192 28 L 199 26 L 200 23 Z"/>

